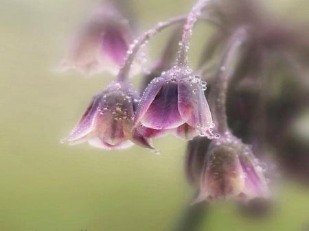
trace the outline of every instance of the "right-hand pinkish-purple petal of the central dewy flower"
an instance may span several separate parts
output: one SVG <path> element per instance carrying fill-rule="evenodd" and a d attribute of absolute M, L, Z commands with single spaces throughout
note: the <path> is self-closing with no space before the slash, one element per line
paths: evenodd
<path fill-rule="evenodd" d="M 179 81 L 178 95 L 181 117 L 187 124 L 206 133 L 213 123 L 204 90 L 196 77 L 187 77 Z"/>

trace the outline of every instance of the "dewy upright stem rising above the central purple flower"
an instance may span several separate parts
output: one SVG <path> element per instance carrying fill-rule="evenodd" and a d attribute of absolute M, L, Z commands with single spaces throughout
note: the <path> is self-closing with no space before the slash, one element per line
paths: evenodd
<path fill-rule="evenodd" d="M 183 27 L 183 37 L 179 42 L 179 50 L 177 53 L 177 64 L 180 66 L 187 65 L 187 53 L 189 51 L 190 38 L 192 36 L 192 29 L 196 23 L 201 10 L 205 7 L 208 0 L 199 0 L 192 8 L 189 16 L 187 16 L 187 23 Z"/>

